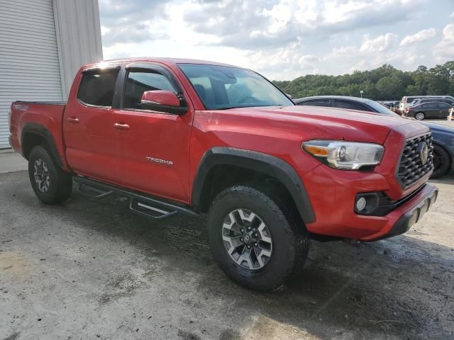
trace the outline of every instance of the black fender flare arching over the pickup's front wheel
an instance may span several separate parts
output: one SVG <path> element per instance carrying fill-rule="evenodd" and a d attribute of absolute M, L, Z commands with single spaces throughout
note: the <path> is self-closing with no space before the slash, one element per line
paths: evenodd
<path fill-rule="evenodd" d="M 293 166 L 270 154 L 232 147 L 211 148 L 201 158 L 192 187 L 194 208 L 201 205 L 201 193 L 206 176 L 211 168 L 219 164 L 240 166 L 274 177 L 289 191 L 303 222 L 307 224 L 316 220 L 304 183 Z"/>

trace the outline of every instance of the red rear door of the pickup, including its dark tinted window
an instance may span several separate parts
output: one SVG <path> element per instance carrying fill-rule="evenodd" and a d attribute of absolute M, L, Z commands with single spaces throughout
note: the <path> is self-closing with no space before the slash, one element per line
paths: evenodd
<path fill-rule="evenodd" d="M 70 94 L 63 118 L 66 158 L 78 174 L 116 180 L 112 102 L 119 67 L 88 69 L 79 74 L 77 93 Z"/>

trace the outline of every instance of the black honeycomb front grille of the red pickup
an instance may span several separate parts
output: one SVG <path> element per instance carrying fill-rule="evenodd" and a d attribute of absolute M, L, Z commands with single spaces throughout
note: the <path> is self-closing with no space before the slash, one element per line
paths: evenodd
<path fill-rule="evenodd" d="M 421 161 L 420 150 L 423 143 L 428 146 L 428 158 L 426 164 Z M 397 179 L 404 189 L 433 170 L 433 145 L 431 132 L 418 137 L 411 137 L 405 142 L 404 151 L 397 171 Z"/>

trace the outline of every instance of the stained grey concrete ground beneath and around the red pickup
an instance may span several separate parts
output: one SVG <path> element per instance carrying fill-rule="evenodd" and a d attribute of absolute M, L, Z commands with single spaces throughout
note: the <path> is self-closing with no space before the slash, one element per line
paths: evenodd
<path fill-rule="evenodd" d="M 454 174 L 433 183 L 406 234 L 313 242 L 264 294 L 226 278 L 203 221 L 79 193 L 47 206 L 26 171 L 0 174 L 0 339 L 454 339 Z"/>

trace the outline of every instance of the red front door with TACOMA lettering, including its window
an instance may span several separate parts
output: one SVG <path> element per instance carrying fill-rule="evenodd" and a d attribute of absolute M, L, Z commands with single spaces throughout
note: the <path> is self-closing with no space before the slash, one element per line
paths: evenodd
<path fill-rule="evenodd" d="M 183 115 L 176 115 L 141 108 L 145 91 L 182 93 L 169 70 L 147 65 L 126 69 L 121 107 L 113 116 L 118 184 L 188 203 L 193 111 L 189 107 Z"/>

